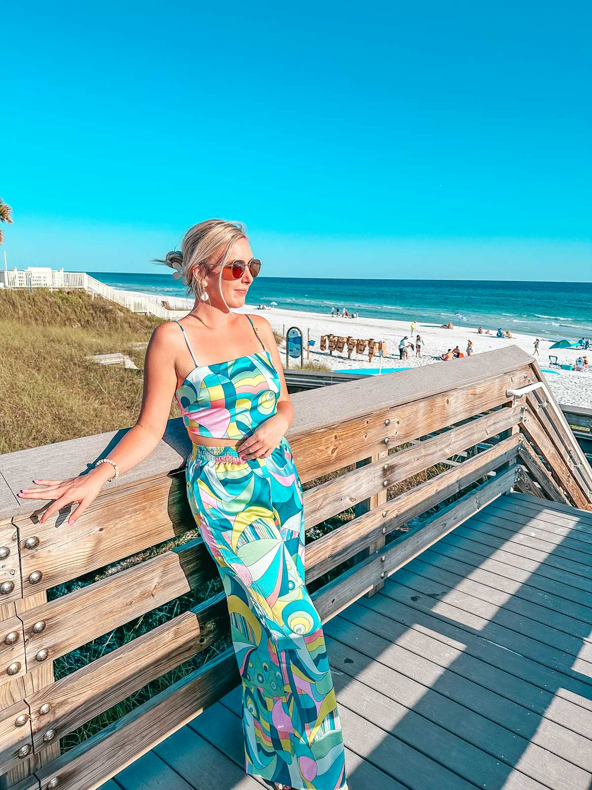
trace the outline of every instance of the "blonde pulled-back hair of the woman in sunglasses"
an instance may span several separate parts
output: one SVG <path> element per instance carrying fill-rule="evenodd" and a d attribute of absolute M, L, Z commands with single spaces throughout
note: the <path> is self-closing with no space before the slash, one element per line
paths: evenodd
<path fill-rule="evenodd" d="M 242 222 L 230 220 L 204 220 L 193 225 L 185 232 L 181 243 L 181 250 L 170 250 L 165 258 L 152 258 L 155 263 L 163 263 L 171 269 L 177 269 L 182 274 L 182 283 L 187 285 L 187 296 L 192 294 L 197 299 L 202 299 L 204 288 L 201 280 L 218 264 L 226 264 L 230 257 L 230 250 L 238 239 L 248 239 L 245 225 Z M 222 256 L 216 253 L 223 250 Z M 222 293 L 222 267 L 220 268 L 218 287 L 223 302 L 226 304 Z M 227 305 L 228 307 L 228 305 Z"/>

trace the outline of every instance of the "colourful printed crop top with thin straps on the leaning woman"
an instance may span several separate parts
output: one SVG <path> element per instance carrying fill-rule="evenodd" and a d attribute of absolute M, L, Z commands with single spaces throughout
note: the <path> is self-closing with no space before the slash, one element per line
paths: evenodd
<path fill-rule="evenodd" d="M 263 351 L 209 365 L 197 364 L 185 329 L 175 322 L 181 327 L 195 363 L 193 371 L 174 393 L 189 437 L 193 433 L 219 439 L 242 439 L 275 414 L 279 375 L 257 327 L 250 318 L 249 322 Z"/>

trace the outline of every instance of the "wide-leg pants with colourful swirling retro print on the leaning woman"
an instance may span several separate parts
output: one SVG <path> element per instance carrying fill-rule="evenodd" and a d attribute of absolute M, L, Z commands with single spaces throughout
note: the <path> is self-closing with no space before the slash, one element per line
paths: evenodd
<path fill-rule="evenodd" d="M 267 458 L 193 445 L 187 495 L 228 600 L 242 678 L 245 771 L 305 790 L 347 788 L 320 617 L 305 588 L 302 483 L 283 438 Z"/>

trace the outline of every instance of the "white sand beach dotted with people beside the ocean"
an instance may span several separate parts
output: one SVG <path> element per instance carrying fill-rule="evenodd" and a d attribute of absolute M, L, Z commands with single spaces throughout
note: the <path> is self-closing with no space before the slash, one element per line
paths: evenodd
<path fill-rule="evenodd" d="M 132 292 L 126 292 L 132 293 Z M 157 303 L 162 303 L 166 299 L 173 309 L 190 309 L 193 307 L 193 300 L 162 297 L 153 294 L 142 293 L 148 299 Z M 383 340 L 386 344 L 386 354 L 382 360 L 383 370 L 392 367 L 418 367 L 420 365 L 443 364 L 454 365 L 455 361 L 443 362 L 440 359 L 442 352 L 448 348 L 455 348 L 458 344 L 461 352 L 466 354 L 468 340 L 473 341 L 473 352 L 479 354 L 493 348 L 504 348 L 509 345 L 517 345 L 529 354 L 534 352 L 534 335 L 513 333 L 511 339 L 496 337 L 496 327 L 483 326 L 485 332 L 489 329 L 491 334 L 479 334 L 476 327 L 461 324 L 454 326 L 454 329 L 441 329 L 440 325 L 434 323 L 422 323 L 418 318 L 418 324 L 414 333 L 411 333 L 410 322 L 393 321 L 388 318 L 332 318 L 331 314 L 323 315 L 320 313 L 309 313 L 299 310 L 282 310 L 273 307 L 267 310 L 259 310 L 257 305 L 246 304 L 241 312 L 255 313 L 263 315 L 272 325 L 273 329 L 285 334 L 290 326 L 298 326 L 302 329 L 302 334 L 306 338 L 307 331 L 310 332 L 311 340 L 315 340 L 314 347 L 311 347 L 310 360 L 323 362 L 332 370 L 347 370 L 352 368 L 380 367 L 380 357 L 374 355 L 372 363 L 368 362 L 368 352 L 351 354 L 351 359 L 347 359 L 347 348 L 343 352 L 320 351 L 320 337 L 324 334 L 333 333 L 342 337 L 351 336 L 360 339 L 373 338 Z M 422 355 L 415 356 L 415 350 L 409 348 L 409 358 L 399 359 L 399 340 L 407 335 L 409 341 L 415 340 L 415 335 L 419 333 L 423 340 Z M 549 352 L 551 340 L 541 340 L 539 355 L 535 356 L 539 366 L 545 372 L 545 378 L 549 387 L 553 390 L 555 397 L 561 404 L 571 406 L 585 406 L 592 408 L 592 350 L 583 352 L 575 348 L 559 348 Z M 283 344 L 285 348 L 285 343 Z M 559 363 L 575 363 L 579 356 L 587 355 L 590 360 L 590 368 L 587 371 L 565 371 L 560 367 L 549 365 L 549 353 L 556 355 Z M 436 359 L 437 358 L 437 359 Z"/>

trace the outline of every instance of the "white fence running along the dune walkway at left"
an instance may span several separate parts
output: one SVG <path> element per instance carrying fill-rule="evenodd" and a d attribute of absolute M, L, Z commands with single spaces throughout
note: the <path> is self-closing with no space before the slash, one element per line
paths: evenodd
<path fill-rule="evenodd" d="M 150 299 L 141 296 L 126 294 L 125 291 L 118 291 L 116 288 L 95 280 L 86 272 L 65 272 L 63 269 L 31 267 L 31 269 L 11 269 L 0 271 L 0 283 L 5 288 L 84 288 L 89 294 L 98 294 L 104 299 L 116 302 L 132 310 L 134 313 L 155 315 L 157 318 L 174 321 L 177 318 L 189 313 L 186 310 L 167 310 Z"/>

